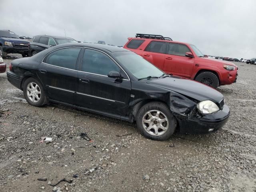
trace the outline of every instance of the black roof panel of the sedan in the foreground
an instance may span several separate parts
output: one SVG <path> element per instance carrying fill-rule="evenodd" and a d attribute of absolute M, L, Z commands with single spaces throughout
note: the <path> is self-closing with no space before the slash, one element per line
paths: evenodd
<path fill-rule="evenodd" d="M 116 46 L 112 46 L 112 45 L 104 45 L 104 44 L 98 44 L 98 43 L 65 43 L 65 44 L 60 44 L 60 45 L 56 45 L 54 47 L 58 47 L 58 48 L 64 48 L 64 47 L 88 47 L 88 48 L 95 48 L 98 50 L 102 50 L 104 52 L 120 52 L 120 51 L 128 51 L 130 52 L 130 50 L 121 48 L 121 47 L 116 47 Z"/>

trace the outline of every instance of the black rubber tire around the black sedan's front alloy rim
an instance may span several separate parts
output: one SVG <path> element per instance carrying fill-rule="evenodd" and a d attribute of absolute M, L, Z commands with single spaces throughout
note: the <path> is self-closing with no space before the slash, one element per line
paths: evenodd
<path fill-rule="evenodd" d="M 144 129 L 142 120 L 143 120 L 144 116 L 147 114 L 147 112 L 149 112 L 151 110 L 160 111 L 159 117 L 161 116 L 161 114 L 164 114 L 166 116 L 166 118 L 168 119 L 168 124 L 167 124 L 167 122 L 162 123 L 162 125 L 164 124 L 164 126 L 166 126 L 166 128 L 167 128 L 167 130 L 165 132 L 163 132 L 163 134 L 161 134 L 161 132 L 164 130 L 161 130 L 161 129 L 159 132 L 160 135 L 150 134 Z M 164 118 L 164 116 L 162 116 L 161 119 L 162 118 Z M 154 120 L 152 122 L 154 122 Z M 163 141 L 163 140 L 167 140 L 168 138 L 170 138 L 170 136 L 172 136 L 172 134 L 176 130 L 177 120 L 173 116 L 170 109 L 166 106 L 166 104 L 164 104 L 162 102 L 149 102 L 149 103 L 145 104 L 144 106 L 142 106 L 142 108 L 140 108 L 140 110 L 138 111 L 138 114 L 136 116 L 136 124 L 137 124 L 137 127 L 138 127 L 140 133 L 142 135 L 144 135 L 145 137 L 150 138 L 152 140 Z M 147 124 L 147 125 L 149 126 L 149 124 Z M 154 128 L 152 128 L 152 132 L 153 131 L 154 131 Z"/>

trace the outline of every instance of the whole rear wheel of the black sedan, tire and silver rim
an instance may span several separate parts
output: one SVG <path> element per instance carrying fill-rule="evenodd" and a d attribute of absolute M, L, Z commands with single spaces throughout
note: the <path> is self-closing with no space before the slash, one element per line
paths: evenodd
<path fill-rule="evenodd" d="M 36 78 L 30 77 L 25 80 L 23 94 L 26 101 L 32 106 L 40 107 L 48 103 L 44 87 Z"/>

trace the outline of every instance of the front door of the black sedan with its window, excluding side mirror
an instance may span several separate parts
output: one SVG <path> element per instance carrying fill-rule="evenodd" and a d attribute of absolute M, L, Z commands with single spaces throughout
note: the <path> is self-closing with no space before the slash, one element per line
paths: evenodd
<path fill-rule="evenodd" d="M 123 79 L 108 77 L 118 71 Z M 124 71 L 104 52 L 86 48 L 77 75 L 75 102 L 78 106 L 125 116 L 131 82 Z"/>

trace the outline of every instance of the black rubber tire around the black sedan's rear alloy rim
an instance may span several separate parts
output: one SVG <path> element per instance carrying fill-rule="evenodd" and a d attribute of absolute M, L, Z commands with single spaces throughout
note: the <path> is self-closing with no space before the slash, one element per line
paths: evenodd
<path fill-rule="evenodd" d="M 28 98 L 28 94 L 27 94 L 27 87 L 30 83 L 35 83 L 38 85 L 39 89 L 40 89 L 40 99 L 37 102 L 32 102 L 29 98 Z M 32 106 L 36 106 L 36 107 L 40 107 L 40 106 L 44 106 L 45 104 L 48 103 L 48 97 L 46 96 L 46 93 L 44 91 L 44 87 L 42 86 L 42 84 L 34 77 L 30 77 L 27 80 L 25 80 L 25 82 L 23 83 L 23 94 L 24 97 L 26 99 L 26 101 L 32 105 Z"/>

